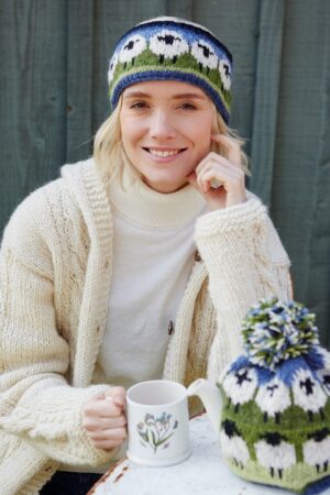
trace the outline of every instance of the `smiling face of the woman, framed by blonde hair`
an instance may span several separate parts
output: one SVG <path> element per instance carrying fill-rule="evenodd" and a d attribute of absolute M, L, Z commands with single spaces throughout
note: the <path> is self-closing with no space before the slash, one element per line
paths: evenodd
<path fill-rule="evenodd" d="M 211 100 L 197 86 L 147 81 L 123 91 L 120 125 L 124 151 L 143 180 L 160 193 L 186 183 L 210 151 Z"/>

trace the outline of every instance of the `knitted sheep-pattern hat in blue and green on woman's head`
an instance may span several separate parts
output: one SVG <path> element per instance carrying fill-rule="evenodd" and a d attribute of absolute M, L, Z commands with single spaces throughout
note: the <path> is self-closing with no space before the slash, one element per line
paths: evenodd
<path fill-rule="evenodd" d="M 108 72 L 111 107 L 135 82 L 178 80 L 201 88 L 228 123 L 231 74 L 230 52 L 206 28 L 177 18 L 151 19 L 116 46 Z"/>

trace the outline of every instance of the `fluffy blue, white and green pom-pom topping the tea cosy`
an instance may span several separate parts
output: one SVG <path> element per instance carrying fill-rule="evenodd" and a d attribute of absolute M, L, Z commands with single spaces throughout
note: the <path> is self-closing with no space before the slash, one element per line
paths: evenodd
<path fill-rule="evenodd" d="M 296 301 L 262 299 L 242 323 L 244 349 L 251 363 L 274 370 L 282 361 L 307 354 L 319 344 L 316 316 Z"/>

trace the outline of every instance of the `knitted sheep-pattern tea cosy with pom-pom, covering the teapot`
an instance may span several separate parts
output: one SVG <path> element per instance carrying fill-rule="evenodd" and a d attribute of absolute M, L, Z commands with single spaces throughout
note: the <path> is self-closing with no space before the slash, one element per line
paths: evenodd
<path fill-rule="evenodd" d="M 330 486 L 330 352 L 315 315 L 262 300 L 242 327 L 245 354 L 222 373 L 222 455 L 240 476 L 306 495 Z"/>

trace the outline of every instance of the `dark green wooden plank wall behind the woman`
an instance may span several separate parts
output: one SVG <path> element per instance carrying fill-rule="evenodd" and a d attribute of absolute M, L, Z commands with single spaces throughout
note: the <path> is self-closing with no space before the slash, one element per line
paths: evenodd
<path fill-rule="evenodd" d="M 233 53 L 231 127 L 246 139 L 249 187 L 329 344 L 329 0 L 0 0 L 0 230 L 62 164 L 90 154 L 114 43 L 160 14 L 205 24 Z"/>

